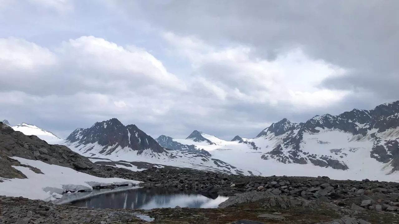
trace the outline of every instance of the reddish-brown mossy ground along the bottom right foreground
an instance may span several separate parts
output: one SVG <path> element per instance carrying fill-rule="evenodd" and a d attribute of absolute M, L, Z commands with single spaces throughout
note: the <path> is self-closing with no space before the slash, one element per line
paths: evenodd
<path fill-rule="evenodd" d="M 159 208 L 153 209 L 148 215 L 155 218 L 154 224 L 227 224 L 236 220 L 253 220 L 266 224 L 314 224 L 330 222 L 344 215 L 361 218 L 372 224 L 399 224 L 399 216 L 388 212 L 352 212 L 336 211 L 331 208 L 292 208 L 274 210 L 263 208 L 262 202 L 239 204 L 223 209 L 216 208 Z M 265 220 L 257 218 L 260 214 L 277 214 L 285 220 Z"/>

